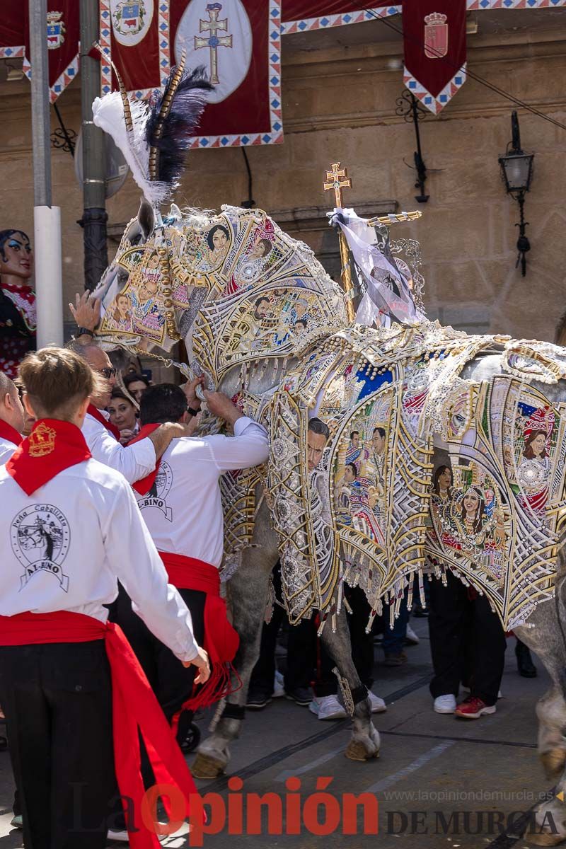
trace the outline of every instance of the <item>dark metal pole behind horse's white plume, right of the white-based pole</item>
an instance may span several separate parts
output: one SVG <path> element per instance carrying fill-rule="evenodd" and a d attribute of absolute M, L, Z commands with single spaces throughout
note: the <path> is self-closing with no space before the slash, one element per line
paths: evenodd
<path fill-rule="evenodd" d="M 98 0 L 81 0 L 82 197 L 85 289 L 98 285 L 108 265 L 106 247 L 106 163 L 104 132 L 92 122 L 92 101 L 100 94 L 100 62 L 88 53 L 98 42 Z"/>

